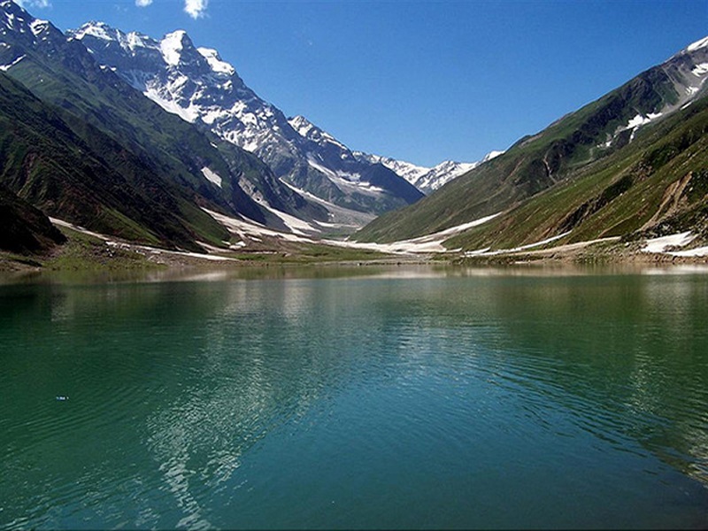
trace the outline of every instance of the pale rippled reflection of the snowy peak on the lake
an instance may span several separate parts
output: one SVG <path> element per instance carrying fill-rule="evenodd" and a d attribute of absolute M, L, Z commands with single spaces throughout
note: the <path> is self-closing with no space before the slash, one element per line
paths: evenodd
<path fill-rule="evenodd" d="M 199 501 L 204 493 L 240 488 L 242 453 L 304 416 L 333 385 L 306 320 L 312 312 L 335 319 L 336 312 L 326 298 L 315 302 L 312 288 L 300 281 L 232 281 L 214 296 L 204 344 L 194 354 L 198 368 L 190 368 L 196 373 L 184 374 L 181 394 L 147 420 L 165 485 L 186 513 L 178 527 L 212 527 Z M 273 350 L 274 342 L 289 350 Z"/>

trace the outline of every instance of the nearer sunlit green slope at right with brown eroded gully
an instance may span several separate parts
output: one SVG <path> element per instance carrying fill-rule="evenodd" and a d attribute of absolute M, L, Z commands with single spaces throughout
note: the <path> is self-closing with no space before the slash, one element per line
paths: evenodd
<path fill-rule="evenodd" d="M 564 242 L 708 225 L 708 98 L 644 127 L 624 150 L 446 245 L 508 249 L 570 231 Z"/>

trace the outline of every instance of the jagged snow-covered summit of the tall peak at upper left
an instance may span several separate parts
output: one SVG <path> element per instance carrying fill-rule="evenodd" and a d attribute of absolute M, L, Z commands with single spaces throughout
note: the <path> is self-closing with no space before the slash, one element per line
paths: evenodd
<path fill-rule="evenodd" d="M 192 123 L 201 120 L 246 150 L 279 143 L 288 150 L 296 138 L 285 116 L 246 87 L 232 65 L 216 50 L 196 48 L 183 30 L 158 41 L 89 22 L 68 33 L 165 111 Z"/>

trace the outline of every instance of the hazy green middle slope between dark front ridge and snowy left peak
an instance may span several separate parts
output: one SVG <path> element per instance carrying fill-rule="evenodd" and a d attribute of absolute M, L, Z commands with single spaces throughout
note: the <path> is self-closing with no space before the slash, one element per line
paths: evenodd
<path fill-rule="evenodd" d="M 70 44 L 74 49 L 81 46 L 78 42 Z M 189 232 L 208 242 L 219 242 L 222 228 L 193 201 L 194 196 L 204 196 L 205 201 L 228 206 L 221 191 L 205 183 L 200 173 L 204 165 L 221 175 L 230 173 L 219 151 L 195 127 L 164 112 L 117 77 L 111 82 L 109 75 L 96 71 L 97 65 L 91 64 L 93 59 L 86 57 L 88 52 L 74 51 L 76 58 L 65 50 L 64 58 L 52 62 L 28 50 L 27 58 L 10 73 L 42 101 L 56 105 L 58 114 L 73 132 L 116 167 L 128 185 L 140 188 L 145 179 L 154 181 L 164 190 L 162 197 L 173 196 L 173 204 L 168 208 L 174 209 L 173 216 L 181 219 Z M 96 130 L 103 135 L 96 136 Z M 109 139 L 116 149 L 105 149 Z M 116 157 L 111 158 L 112 155 Z M 150 177 L 142 175 L 142 181 L 131 181 L 136 175 L 125 168 L 126 156 L 139 161 Z M 229 180 L 225 188 L 227 194 L 231 192 Z M 151 193 L 155 192 L 153 189 Z"/>

